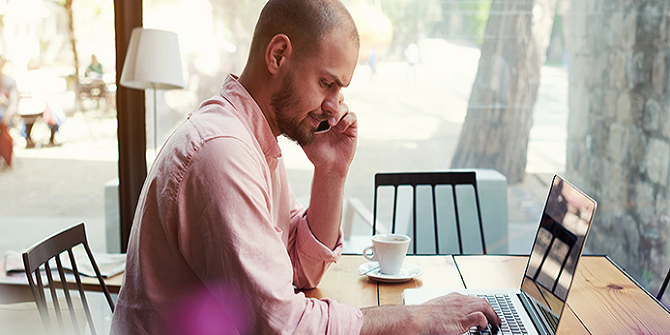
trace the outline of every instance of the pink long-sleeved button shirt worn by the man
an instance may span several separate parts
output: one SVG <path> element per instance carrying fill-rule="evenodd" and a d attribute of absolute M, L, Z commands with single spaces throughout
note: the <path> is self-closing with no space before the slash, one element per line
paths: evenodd
<path fill-rule="evenodd" d="M 359 309 L 293 287 L 316 287 L 341 252 L 341 235 L 335 250 L 312 235 L 277 138 L 229 76 L 147 176 L 112 333 L 358 334 Z"/>

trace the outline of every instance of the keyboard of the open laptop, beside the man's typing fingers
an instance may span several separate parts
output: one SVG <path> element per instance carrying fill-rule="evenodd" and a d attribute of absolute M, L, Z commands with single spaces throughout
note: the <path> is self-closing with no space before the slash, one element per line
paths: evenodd
<path fill-rule="evenodd" d="M 508 295 L 504 294 L 495 294 L 495 295 L 473 295 L 475 297 L 480 297 L 486 299 L 493 310 L 498 313 L 500 319 L 502 319 L 502 325 L 499 329 L 492 329 L 491 325 L 486 327 L 486 329 L 478 331 L 476 328 L 470 329 L 471 335 L 523 335 L 528 334 L 526 327 L 521 323 L 521 318 L 519 313 L 516 312 L 514 305 L 512 305 L 512 300 Z"/>

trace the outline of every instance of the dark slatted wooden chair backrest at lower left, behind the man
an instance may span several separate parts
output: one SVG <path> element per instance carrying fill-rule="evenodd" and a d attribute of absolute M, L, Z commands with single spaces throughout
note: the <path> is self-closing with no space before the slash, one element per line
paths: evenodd
<path fill-rule="evenodd" d="M 61 331 L 64 331 L 66 327 L 65 323 L 63 322 L 63 313 L 61 313 L 61 304 L 59 303 L 59 298 L 56 293 L 57 286 L 63 289 L 69 311 L 67 314 L 70 315 L 72 329 L 75 330 L 76 334 L 79 334 L 79 329 L 83 328 L 83 326 L 79 326 L 82 325 L 81 322 L 86 322 L 86 320 L 77 320 L 77 313 L 75 312 L 75 306 L 73 304 L 74 300 L 70 294 L 71 284 L 63 284 L 67 282 L 65 271 L 68 269 L 63 266 L 63 263 L 65 263 L 71 265 L 71 269 L 69 270 L 73 273 L 73 277 L 75 278 L 77 284 L 76 287 L 79 291 L 79 298 L 81 300 L 81 304 L 83 305 L 86 319 L 88 320 L 89 329 L 91 334 L 96 334 L 95 327 L 93 326 L 93 318 L 91 317 L 91 311 L 84 294 L 84 288 L 82 286 L 79 270 L 77 268 L 77 259 L 75 258 L 75 254 L 73 252 L 73 248 L 79 245 L 83 245 L 84 249 L 86 250 L 88 260 L 91 262 L 91 266 L 96 273 L 100 287 L 105 294 L 107 302 L 109 303 L 109 307 L 111 308 L 112 312 L 114 312 L 114 302 L 112 301 L 109 290 L 105 285 L 102 275 L 100 274 L 98 265 L 93 258 L 91 249 L 88 246 L 84 223 L 79 223 L 75 226 L 47 237 L 46 239 L 34 244 L 23 253 L 23 265 L 26 269 L 26 274 L 28 275 L 28 284 L 30 285 L 30 290 L 32 291 L 35 302 L 37 303 L 37 309 L 40 312 L 44 327 L 49 333 L 53 333 L 53 329 L 49 317 L 46 293 L 44 292 L 45 286 L 43 280 L 45 278 L 49 287 L 49 292 L 51 293 L 51 302 L 53 304 L 56 319 Z M 54 263 L 56 265 L 56 269 L 52 269 Z M 54 281 L 53 278 L 54 275 L 52 274 L 52 271 L 56 270 L 58 272 L 58 278 L 60 279 L 59 282 Z"/>

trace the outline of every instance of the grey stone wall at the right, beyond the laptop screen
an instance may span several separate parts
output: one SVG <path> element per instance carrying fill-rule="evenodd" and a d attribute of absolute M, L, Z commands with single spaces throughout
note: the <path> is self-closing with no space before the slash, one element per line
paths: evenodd
<path fill-rule="evenodd" d="M 656 294 L 670 267 L 670 4 L 573 0 L 566 176 L 599 203 L 586 248 Z"/>

